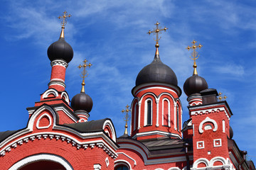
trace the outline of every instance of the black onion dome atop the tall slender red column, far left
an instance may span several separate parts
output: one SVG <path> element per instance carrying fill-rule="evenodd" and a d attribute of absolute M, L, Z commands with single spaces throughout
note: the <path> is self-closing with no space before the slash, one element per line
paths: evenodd
<path fill-rule="evenodd" d="M 58 41 L 53 42 L 47 50 L 48 58 L 50 62 L 53 60 L 65 60 L 65 62 L 69 63 L 73 59 L 73 49 L 65 41 L 64 38 L 60 38 Z"/>

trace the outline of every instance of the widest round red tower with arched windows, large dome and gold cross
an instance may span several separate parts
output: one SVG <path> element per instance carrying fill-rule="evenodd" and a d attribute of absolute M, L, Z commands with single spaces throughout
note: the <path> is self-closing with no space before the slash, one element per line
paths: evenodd
<path fill-rule="evenodd" d="M 167 28 L 161 29 L 158 22 L 155 25 L 148 32 L 156 34 L 154 60 L 139 72 L 132 89 L 131 137 L 136 140 L 182 137 L 181 89 L 174 71 L 159 57 L 159 33 Z"/>

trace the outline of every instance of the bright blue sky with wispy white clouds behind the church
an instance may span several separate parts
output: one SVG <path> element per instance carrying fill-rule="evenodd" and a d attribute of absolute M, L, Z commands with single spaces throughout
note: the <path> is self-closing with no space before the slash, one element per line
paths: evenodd
<path fill-rule="evenodd" d="M 256 1 L 1 1 L 0 131 L 24 128 L 27 107 L 48 88 L 48 46 L 58 40 L 63 11 L 72 15 L 65 40 L 74 58 L 66 72 L 70 98 L 80 92 L 77 66 L 93 65 L 85 92 L 94 106 L 90 120 L 111 118 L 117 136 L 124 132 L 121 110 L 132 102 L 139 71 L 154 58 L 154 40 L 146 32 L 159 21 L 169 28 L 159 41 L 162 62 L 178 78 L 178 86 L 193 73 L 186 50 L 192 40 L 203 47 L 198 74 L 210 88 L 228 96 L 235 141 L 256 162 Z M 186 95 L 183 121 L 188 119 Z"/>

